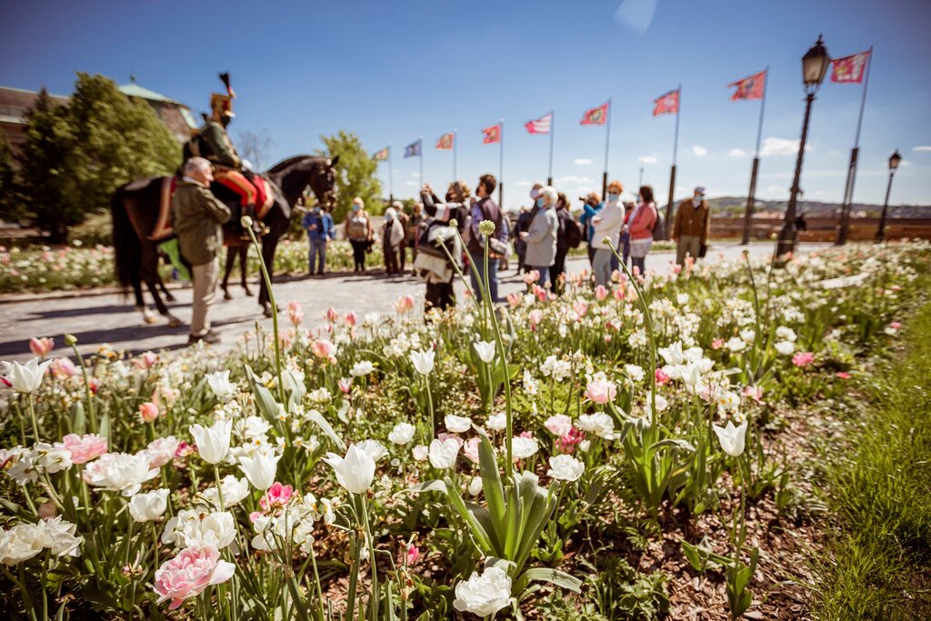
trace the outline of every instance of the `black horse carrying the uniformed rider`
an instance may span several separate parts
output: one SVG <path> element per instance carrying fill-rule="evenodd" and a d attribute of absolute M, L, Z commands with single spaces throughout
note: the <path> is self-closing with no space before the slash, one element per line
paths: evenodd
<path fill-rule="evenodd" d="M 262 261 L 268 274 L 272 274 L 275 262 L 275 250 L 278 241 L 288 233 L 290 228 L 291 205 L 297 203 L 309 185 L 317 196 L 317 200 L 326 206 L 335 201 L 333 190 L 336 182 L 336 163 L 339 155 L 329 158 L 324 155 L 294 155 L 278 162 L 264 173 L 264 178 L 270 182 L 275 202 L 264 214 L 262 222 L 269 232 L 262 237 Z M 169 313 L 168 307 L 158 293 L 158 260 L 157 243 L 149 239 L 158 218 L 159 203 L 161 201 L 162 185 L 165 177 L 150 177 L 134 182 L 128 182 L 116 190 L 111 199 L 113 213 L 113 239 L 116 277 L 124 293 L 131 287 L 136 301 L 136 309 L 142 312 L 146 322 L 151 322 L 144 300 L 142 299 L 142 283 L 145 283 L 149 293 L 155 299 L 155 307 L 159 314 L 168 317 L 169 326 L 182 325 L 177 317 Z M 212 183 L 210 189 L 215 196 L 236 213 L 238 196 L 219 183 Z M 223 236 L 226 239 L 237 239 L 241 230 L 236 223 L 223 225 Z M 271 317 L 273 311 L 269 301 L 268 289 L 264 280 L 259 289 L 259 304 L 263 315 Z"/>

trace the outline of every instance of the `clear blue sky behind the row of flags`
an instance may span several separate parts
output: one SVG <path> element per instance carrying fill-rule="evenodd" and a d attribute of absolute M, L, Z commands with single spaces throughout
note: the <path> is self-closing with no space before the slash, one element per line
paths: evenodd
<path fill-rule="evenodd" d="M 627 23 L 618 20 L 618 10 Z M 758 196 L 789 196 L 803 115 L 801 57 L 823 33 L 840 58 L 875 47 L 855 200 L 881 203 L 898 148 L 893 204 L 931 204 L 931 3 L 927 0 L 625 0 L 610 2 L 112 2 L 8 3 L 0 20 L 0 85 L 69 93 L 74 72 L 134 74 L 147 88 L 205 110 L 221 71 L 233 76 L 234 138 L 264 129 L 272 158 L 356 132 L 370 152 L 392 144 L 394 191 L 420 180 L 403 147 L 424 136 L 425 180 L 452 178 L 433 144 L 459 132 L 458 176 L 498 172 L 480 129 L 505 120 L 506 206 L 546 181 L 548 138 L 523 122 L 556 113 L 555 185 L 600 189 L 604 128 L 585 109 L 614 101 L 609 175 L 654 184 L 665 202 L 674 118 L 655 97 L 682 85 L 677 198 L 696 183 L 746 195 L 759 101 L 727 85 L 770 67 Z M 815 102 L 802 186 L 840 201 L 861 88 L 826 81 Z M 736 151 L 736 150 L 739 150 Z M 741 154 L 742 152 L 742 154 Z M 750 155 L 747 155 L 750 154 Z M 380 166 L 387 186 L 387 165 Z M 386 193 L 386 192 L 385 192 Z"/>

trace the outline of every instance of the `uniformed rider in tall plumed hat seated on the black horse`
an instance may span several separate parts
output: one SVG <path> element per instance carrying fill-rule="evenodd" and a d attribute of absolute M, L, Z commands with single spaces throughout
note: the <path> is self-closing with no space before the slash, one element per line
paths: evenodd
<path fill-rule="evenodd" d="M 190 144 L 199 152 L 194 155 L 205 157 L 213 164 L 214 180 L 239 196 L 242 215 L 252 219 L 252 230 L 255 234 L 264 235 L 268 230 L 258 221 L 255 211 L 256 200 L 264 193 L 252 182 L 252 172 L 243 166 L 243 160 L 236 153 L 236 147 L 226 131 L 226 126 L 236 116 L 233 113 L 236 93 L 230 87 L 229 74 L 220 74 L 220 79 L 226 87 L 226 94 L 210 94 L 210 116 L 205 119 L 204 127 L 199 129 L 198 135 Z M 185 159 L 186 157 L 187 154 Z"/>

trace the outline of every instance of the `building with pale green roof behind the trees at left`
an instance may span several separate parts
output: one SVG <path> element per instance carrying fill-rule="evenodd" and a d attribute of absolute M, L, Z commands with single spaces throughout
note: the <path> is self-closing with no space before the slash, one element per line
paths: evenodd
<path fill-rule="evenodd" d="M 174 101 L 161 93 L 149 88 L 141 87 L 132 78 L 129 84 L 118 87 L 121 92 L 131 99 L 140 99 L 148 103 L 155 111 L 155 115 L 169 128 L 178 142 L 187 142 L 191 132 L 197 128 L 197 122 L 191 110 L 181 103 Z M 25 142 L 26 113 L 33 107 L 39 93 L 34 90 L 22 88 L 0 87 L 0 129 L 7 134 L 7 140 L 16 152 Z M 52 95 L 52 101 L 59 105 L 67 105 L 69 97 Z"/>

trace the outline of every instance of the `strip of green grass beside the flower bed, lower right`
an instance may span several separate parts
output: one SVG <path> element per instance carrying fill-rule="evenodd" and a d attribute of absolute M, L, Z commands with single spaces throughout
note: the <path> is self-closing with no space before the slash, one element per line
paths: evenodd
<path fill-rule="evenodd" d="M 819 619 L 931 618 L 931 303 L 900 338 L 904 355 L 870 373 L 865 418 L 826 455 L 842 527 L 817 571 Z"/>

